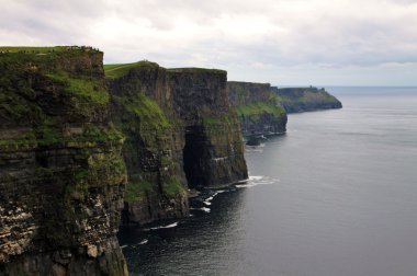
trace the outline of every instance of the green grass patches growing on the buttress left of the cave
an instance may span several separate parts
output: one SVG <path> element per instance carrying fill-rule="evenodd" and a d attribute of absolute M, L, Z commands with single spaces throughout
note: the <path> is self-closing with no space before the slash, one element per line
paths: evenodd
<path fill-rule="evenodd" d="M 153 164 L 131 168 L 133 182 L 127 184 L 125 200 L 128 203 L 139 202 L 151 193 L 158 194 L 159 189 L 167 196 L 185 193 L 184 185 L 176 179 L 174 161 L 170 156 L 164 153 L 164 148 L 169 148 L 169 145 L 162 145 L 168 142 L 164 139 L 172 131 L 174 123 L 168 120 L 154 100 L 142 93 L 133 97 L 113 95 L 113 103 L 117 105 L 116 110 L 122 112 L 124 117 L 116 120 L 116 125 L 126 137 L 124 145 L 125 156 L 131 156 L 132 150 L 135 150 L 144 151 L 142 159 L 145 159 L 146 154 L 151 154 L 153 157 L 151 161 L 148 160 Z M 161 170 L 157 172 L 160 181 L 158 185 L 153 184 L 155 175 L 153 172 L 147 171 L 147 165 Z M 168 176 L 169 174 L 172 175 Z"/>

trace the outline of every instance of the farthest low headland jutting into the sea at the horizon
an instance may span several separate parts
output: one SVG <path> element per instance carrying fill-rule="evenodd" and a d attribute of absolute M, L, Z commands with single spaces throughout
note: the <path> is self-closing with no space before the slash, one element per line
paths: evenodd
<path fill-rule="evenodd" d="M 288 113 L 341 108 L 341 103 L 325 89 L 317 88 L 273 88 Z"/>

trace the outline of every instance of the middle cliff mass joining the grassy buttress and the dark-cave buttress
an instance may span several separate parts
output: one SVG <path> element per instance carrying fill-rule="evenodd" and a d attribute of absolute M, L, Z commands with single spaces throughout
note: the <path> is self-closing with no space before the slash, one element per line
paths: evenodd
<path fill-rule="evenodd" d="M 187 216 L 188 187 L 247 177 L 225 71 L 167 70 L 148 61 L 105 71 L 113 117 L 126 137 L 125 222 Z"/>

